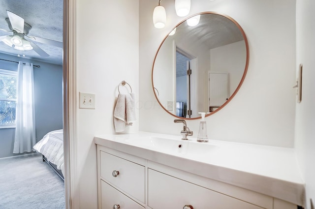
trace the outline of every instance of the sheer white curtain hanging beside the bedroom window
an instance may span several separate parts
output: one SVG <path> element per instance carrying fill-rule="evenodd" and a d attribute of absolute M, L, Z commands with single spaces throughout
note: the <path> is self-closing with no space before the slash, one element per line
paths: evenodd
<path fill-rule="evenodd" d="M 16 127 L 13 153 L 30 152 L 36 143 L 33 64 L 18 65 Z"/>

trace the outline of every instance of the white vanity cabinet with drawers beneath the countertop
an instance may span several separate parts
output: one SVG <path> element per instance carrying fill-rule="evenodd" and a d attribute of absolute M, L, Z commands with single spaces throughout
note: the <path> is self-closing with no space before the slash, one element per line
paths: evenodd
<path fill-rule="evenodd" d="M 97 181 L 98 209 L 297 209 L 264 194 L 98 144 Z"/>

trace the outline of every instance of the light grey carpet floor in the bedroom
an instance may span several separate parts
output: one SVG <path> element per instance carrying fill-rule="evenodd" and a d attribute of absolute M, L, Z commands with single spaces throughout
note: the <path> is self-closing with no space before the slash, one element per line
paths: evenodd
<path fill-rule="evenodd" d="M 42 155 L 0 159 L 0 209 L 64 209 L 64 182 Z"/>

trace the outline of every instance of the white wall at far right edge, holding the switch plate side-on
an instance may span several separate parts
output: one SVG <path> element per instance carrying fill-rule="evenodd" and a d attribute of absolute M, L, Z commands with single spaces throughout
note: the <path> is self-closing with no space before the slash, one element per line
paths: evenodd
<path fill-rule="evenodd" d="M 307 209 L 315 203 L 315 1 L 297 0 L 297 62 L 303 64 L 302 101 L 296 106 L 295 148 L 306 182 Z"/>

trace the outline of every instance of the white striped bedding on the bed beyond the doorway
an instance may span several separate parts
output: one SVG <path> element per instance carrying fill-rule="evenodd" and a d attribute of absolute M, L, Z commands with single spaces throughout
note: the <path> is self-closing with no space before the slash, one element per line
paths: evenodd
<path fill-rule="evenodd" d="M 47 160 L 57 166 L 64 174 L 63 164 L 63 129 L 47 133 L 34 147 Z"/>

